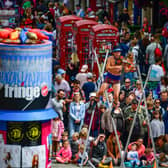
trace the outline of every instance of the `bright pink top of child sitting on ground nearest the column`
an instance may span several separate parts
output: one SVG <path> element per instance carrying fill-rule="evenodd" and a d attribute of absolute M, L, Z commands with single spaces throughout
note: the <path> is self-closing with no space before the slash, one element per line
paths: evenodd
<path fill-rule="evenodd" d="M 70 161 L 72 157 L 71 148 L 68 147 L 67 149 L 65 149 L 64 147 L 62 147 L 60 151 L 57 153 L 57 157 L 63 157 L 67 161 Z"/>

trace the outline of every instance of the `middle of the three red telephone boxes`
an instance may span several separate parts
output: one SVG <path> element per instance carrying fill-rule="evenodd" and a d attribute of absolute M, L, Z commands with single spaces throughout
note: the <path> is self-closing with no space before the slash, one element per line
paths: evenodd
<path fill-rule="evenodd" d="M 89 57 L 89 35 L 92 26 L 98 23 L 92 20 L 80 20 L 74 24 L 74 39 L 77 46 L 77 54 L 80 66 L 87 64 L 90 68 L 91 58 Z"/>

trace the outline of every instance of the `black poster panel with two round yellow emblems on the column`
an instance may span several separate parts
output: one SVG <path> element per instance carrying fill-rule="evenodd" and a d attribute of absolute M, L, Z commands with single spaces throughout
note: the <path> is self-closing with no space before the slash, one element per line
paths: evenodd
<path fill-rule="evenodd" d="M 40 122 L 8 122 L 7 143 L 22 146 L 41 145 Z"/>

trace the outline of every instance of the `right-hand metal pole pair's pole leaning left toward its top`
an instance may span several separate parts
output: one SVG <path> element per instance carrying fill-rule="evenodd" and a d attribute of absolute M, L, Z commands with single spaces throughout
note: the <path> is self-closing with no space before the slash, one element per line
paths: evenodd
<path fill-rule="evenodd" d="M 140 79 L 140 81 L 141 81 L 141 88 L 143 88 L 142 76 L 141 76 L 141 73 L 140 73 L 139 65 L 137 65 L 137 70 L 138 70 L 138 73 L 139 73 L 139 79 Z M 151 71 L 151 70 L 150 70 L 150 71 Z M 154 143 L 154 140 L 153 140 L 152 129 L 151 129 L 151 124 L 150 124 L 150 120 L 149 120 L 149 115 L 148 115 L 148 109 L 147 109 L 147 103 L 146 103 L 146 97 L 145 97 L 145 91 L 144 91 L 144 89 L 143 89 L 143 99 L 144 99 L 144 104 L 145 104 L 145 111 L 146 111 L 146 116 L 147 116 L 147 123 L 148 123 L 148 126 L 149 126 L 149 134 L 150 134 L 150 137 L 151 137 L 152 146 L 153 146 L 153 151 L 154 151 L 154 156 L 155 156 L 155 160 L 156 160 L 156 167 L 159 167 L 159 166 L 158 166 L 158 160 L 157 160 L 157 157 L 156 157 L 155 143 Z"/>

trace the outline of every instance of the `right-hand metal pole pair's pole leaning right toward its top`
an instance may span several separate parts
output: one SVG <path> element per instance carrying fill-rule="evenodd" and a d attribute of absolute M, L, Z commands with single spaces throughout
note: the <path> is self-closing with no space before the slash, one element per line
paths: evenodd
<path fill-rule="evenodd" d="M 147 82 L 148 82 L 148 79 L 149 79 L 150 72 L 151 72 L 151 66 L 149 67 L 148 75 L 147 75 L 147 78 L 146 78 L 146 81 L 145 81 L 143 90 L 146 88 L 146 85 L 147 85 Z M 128 135 L 127 143 L 126 143 L 125 150 L 124 150 L 124 154 L 123 154 L 124 156 L 123 156 L 123 158 L 121 159 L 121 167 L 124 166 L 125 154 L 126 154 L 127 147 L 128 147 L 129 142 L 130 142 L 130 138 L 131 138 L 131 135 L 132 135 L 132 131 L 133 131 L 133 128 L 134 128 L 134 125 L 135 125 L 137 113 L 138 113 L 138 111 L 139 111 L 139 109 L 140 109 L 140 103 L 141 103 L 141 101 L 142 101 L 143 94 L 144 94 L 144 92 L 142 93 L 142 97 L 140 98 L 140 101 L 138 102 L 138 107 L 137 107 L 137 109 L 136 109 L 136 112 L 135 112 L 135 115 L 134 115 L 134 119 L 133 119 L 133 122 L 132 122 L 132 125 L 131 125 L 131 128 L 130 128 L 130 132 L 129 132 L 129 135 Z"/>

